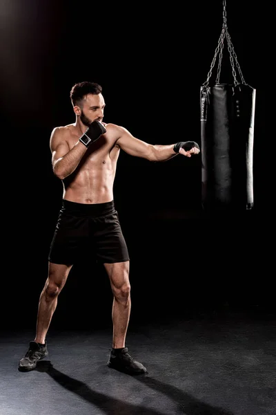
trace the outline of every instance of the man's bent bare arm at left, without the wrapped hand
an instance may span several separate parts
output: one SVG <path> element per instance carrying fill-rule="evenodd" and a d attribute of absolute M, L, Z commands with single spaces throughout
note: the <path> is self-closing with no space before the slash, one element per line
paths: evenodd
<path fill-rule="evenodd" d="M 87 147 L 79 140 L 70 149 L 66 140 L 66 129 L 56 127 L 50 136 L 50 150 L 52 151 L 52 169 L 55 176 L 63 180 L 75 171 Z"/>

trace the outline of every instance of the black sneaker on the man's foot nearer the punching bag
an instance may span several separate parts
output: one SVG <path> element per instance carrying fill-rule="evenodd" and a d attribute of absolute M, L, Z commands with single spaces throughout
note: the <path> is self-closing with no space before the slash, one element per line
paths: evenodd
<path fill-rule="evenodd" d="M 110 351 L 108 366 L 129 375 L 145 374 L 147 371 L 146 367 L 130 356 L 127 347 L 124 347 L 124 349 L 117 354 Z"/>

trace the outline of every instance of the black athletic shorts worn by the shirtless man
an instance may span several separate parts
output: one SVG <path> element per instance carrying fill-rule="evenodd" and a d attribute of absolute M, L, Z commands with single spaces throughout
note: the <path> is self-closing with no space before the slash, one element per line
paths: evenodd
<path fill-rule="evenodd" d="M 72 265 L 89 257 L 102 264 L 129 260 L 114 201 L 87 205 L 63 199 L 48 260 Z"/>

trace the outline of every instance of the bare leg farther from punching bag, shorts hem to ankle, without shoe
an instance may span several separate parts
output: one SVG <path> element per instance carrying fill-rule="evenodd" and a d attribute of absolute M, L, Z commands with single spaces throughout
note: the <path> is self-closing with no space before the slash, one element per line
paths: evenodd
<path fill-rule="evenodd" d="M 45 343 L 52 315 L 57 307 L 57 297 L 66 283 L 71 268 L 72 266 L 49 262 L 48 278 L 39 298 L 37 334 L 34 338 L 37 343 Z"/>

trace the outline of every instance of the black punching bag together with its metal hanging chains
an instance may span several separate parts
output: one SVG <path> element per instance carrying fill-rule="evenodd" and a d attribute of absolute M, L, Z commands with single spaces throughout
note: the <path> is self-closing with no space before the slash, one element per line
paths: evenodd
<path fill-rule="evenodd" d="M 244 81 L 226 24 L 226 0 L 223 1 L 223 6 L 224 22 L 219 44 L 215 49 L 207 80 L 200 88 L 201 205 L 205 212 L 210 213 L 252 210 L 254 203 L 256 90 Z M 225 39 L 233 84 L 220 83 Z M 217 77 L 211 83 L 216 60 Z"/>

